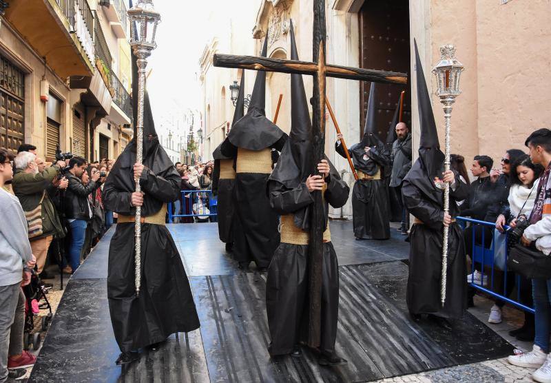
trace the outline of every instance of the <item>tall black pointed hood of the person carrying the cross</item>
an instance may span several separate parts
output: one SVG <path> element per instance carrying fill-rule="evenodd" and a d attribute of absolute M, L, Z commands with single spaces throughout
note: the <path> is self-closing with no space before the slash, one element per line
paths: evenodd
<path fill-rule="evenodd" d="M 293 23 L 291 23 L 290 39 L 291 60 L 298 60 Z M 291 132 L 278 159 L 278 166 L 270 176 L 271 180 L 277 180 L 286 187 L 294 188 L 308 178 L 311 158 L 313 158 L 311 134 L 312 122 L 302 74 L 291 74 Z"/>

